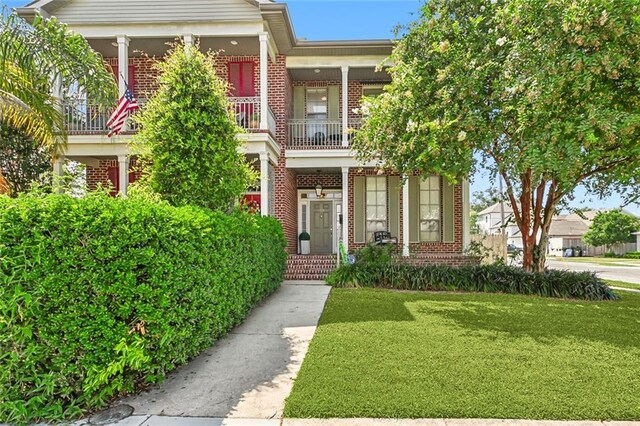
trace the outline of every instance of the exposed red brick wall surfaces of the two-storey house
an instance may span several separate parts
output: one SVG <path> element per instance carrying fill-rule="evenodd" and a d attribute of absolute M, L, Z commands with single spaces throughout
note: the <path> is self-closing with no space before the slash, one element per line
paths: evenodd
<path fill-rule="evenodd" d="M 136 95 L 144 98 L 153 93 L 157 89 L 158 71 L 153 67 L 155 58 L 132 57 L 129 59 L 131 65 L 135 67 Z M 228 78 L 228 63 L 231 61 L 252 61 L 254 63 L 254 87 L 256 96 L 260 95 L 260 66 L 258 56 L 219 56 L 216 59 L 216 72 L 223 78 Z M 117 58 L 107 58 L 107 62 L 114 68 L 117 68 Z M 298 189 L 312 189 L 316 185 L 322 185 L 323 189 L 342 189 L 341 173 L 313 173 L 313 171 L 305 170 L 297 172 L 296 169 L 286 167 L 286 144 L 288 141 L 288 124 L 287 120 L 293 116 L 293 86 L 304 87 L 326 87 L 335 85 L 340 90 L 340 116 L 342 116 L 342 84 L 340 81 L 300 81 L 293 82 L 286 68 L 286 57 L 278 55 L 275 62 L 269 60 L 268 63 L 268 87 L 269 87 L 269 106 L 273 111 L 276 119 L 275 139 L 280 145 L 280 158 L 278 164 L 274 167 L 274 191 L 275 203 L 273 212 L 277 219 L 282 223 L 285 237 L 288 241 L 287 251 L 290 254 L 298 252 Z M 359 118 L 360 116 L 354 112 L 360 106 L 362 97 L 363 84 L 360 81 L 349 81 L 348 84 L 348 108 L 349 119 Z M 313 149 L 334 149 L 331 146 L 317 146 Z M 132 169 L 135 162 L 132 162 Z M 108 186 L 109 168 L 117 167 L 118 162 L 115 158 L 105 158 L 100 160 L 98 167 L 87 167 L 87 183 L 89 188 L 93 189 L 97 183 Z M 355 176 L 366 176 L 377 174 L 375 169 L 356 169 L 349 171 L 349 194 L 348 194 L 348 217 L 349 217 L 349 241 L 350 249 L 358 249 L 363 247 L 363 243 L 354 242 L 354 221 L 353 221 L 353 185 Z M 397 176 L 397 175 L 396 175 Z M 441 197 L 442 197 L 442 192 Z M 403 229 L 403 211 L 402 200 L 403 194 L 400 192 L 400 229 Z M 442 200 L 441 200 L 442 203 Z M 454 188 L 454 241 L 453 243 L 412 243 L 410 251 L 416 257 L 412 258 L 414 262 L 429 263 L 448 263 L 448 264 L 464 264 L 469 263 L 469 259 L 462 255 L 463 246 L 463 219 L 462 219 L 462 187 L 460 185 Z M 442 227 L 441 227 L 442 228 Z M 441 229 L 442 233 L 442 229 Z M 398 235 L 398 242 L 402 247 L 404 241 L 402 232 Z"/>

